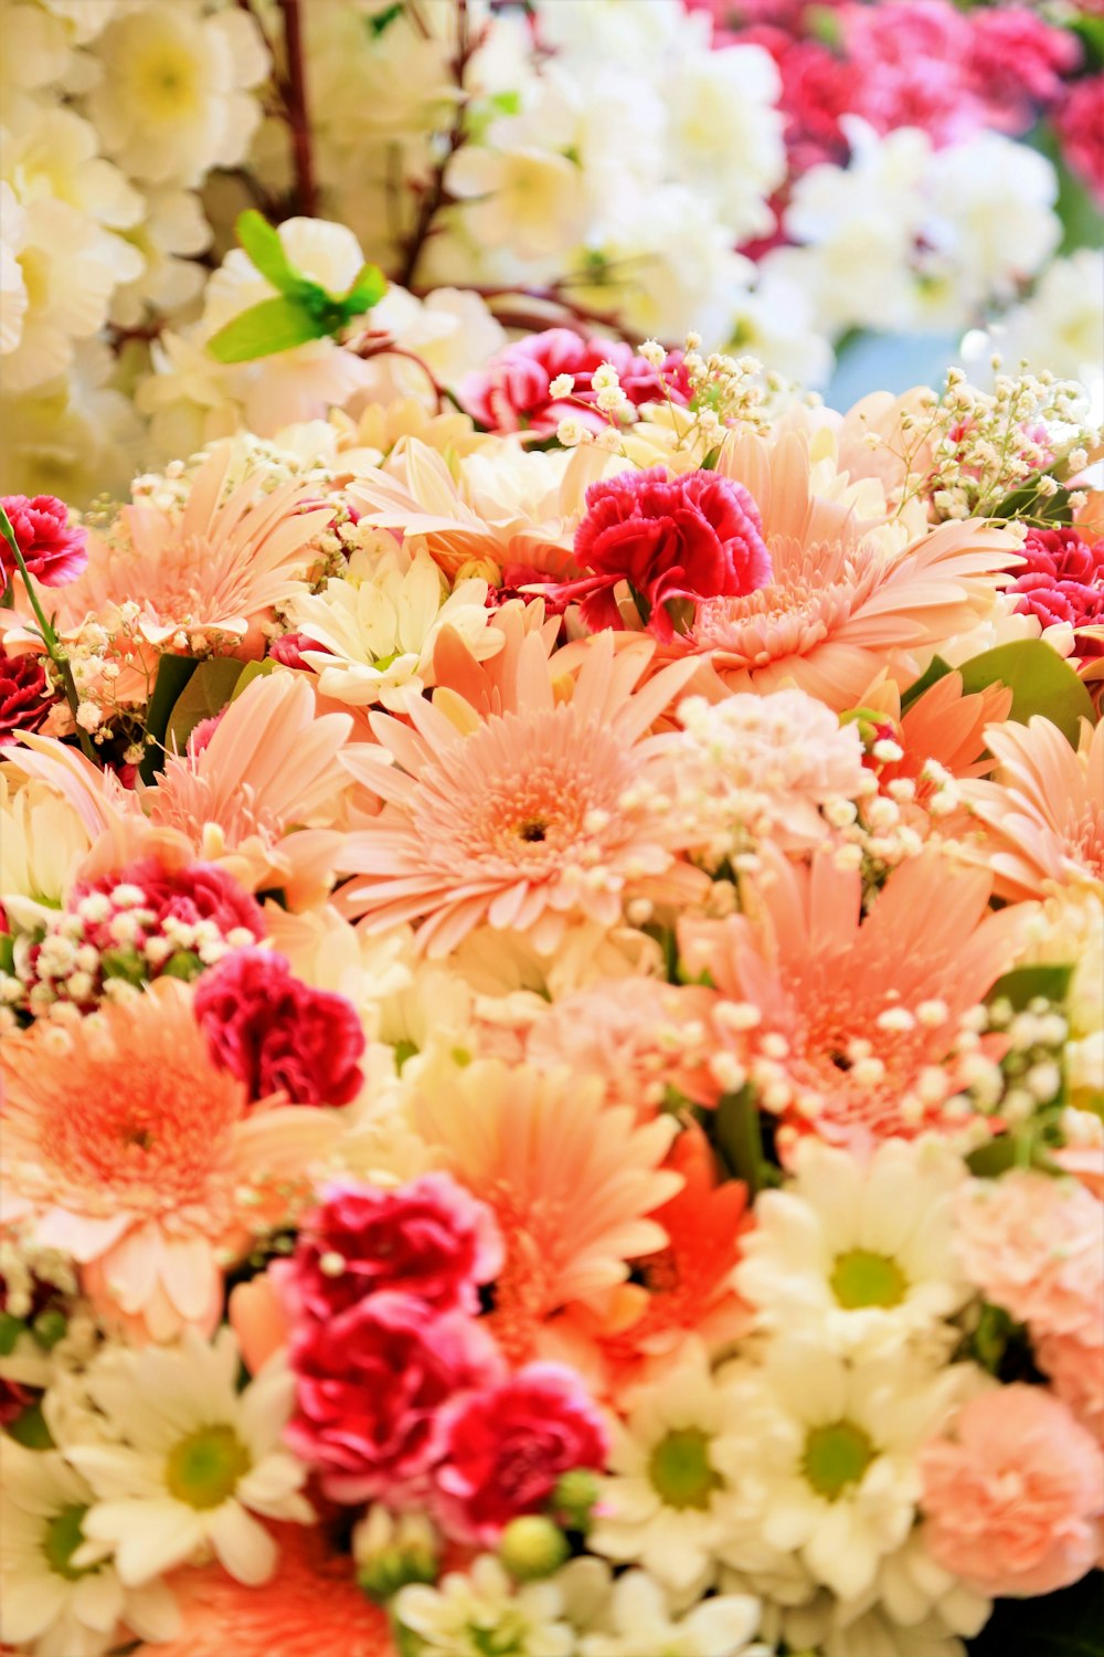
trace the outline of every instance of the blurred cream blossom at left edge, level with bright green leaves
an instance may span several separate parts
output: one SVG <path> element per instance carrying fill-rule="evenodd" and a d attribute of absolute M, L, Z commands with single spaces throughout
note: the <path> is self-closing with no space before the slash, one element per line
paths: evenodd
<path fill-rule="evenodd" d="M 17 255 L 26 287 L 20 343 L 3 363 L 7 394 L 31 391 L 63 374 L 73 341 L 104 323 L 114 288 L 142 272 L 142 255 L 66 202 L 30 202 Z"/>

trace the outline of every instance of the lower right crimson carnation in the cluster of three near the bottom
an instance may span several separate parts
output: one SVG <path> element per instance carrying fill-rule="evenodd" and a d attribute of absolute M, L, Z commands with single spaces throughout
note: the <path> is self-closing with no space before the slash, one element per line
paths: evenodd
<path fill-rule="evenodd" d="M 526 1364 L 445 1412 L 434 1475 L 444 1523 L 463 1541 L 493 1544 L 510 1519 L 540 1513 L 561 1473 L 601 1470 L 607 1448 L 579 1377 L 559 1364 Z"/>

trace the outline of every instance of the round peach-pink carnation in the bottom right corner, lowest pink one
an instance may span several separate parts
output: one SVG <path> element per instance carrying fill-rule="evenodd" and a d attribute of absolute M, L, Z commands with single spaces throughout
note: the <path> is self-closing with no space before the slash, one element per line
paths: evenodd
<path fill-rule="evenodd" d="M 1104 1457 L 1043 1387 L 1000 1387 L 963 1405 L 955 1440 L 920 1452 L 924 1541 L 982 1594 L 1049 1594 L 1101 1551 Z"/>

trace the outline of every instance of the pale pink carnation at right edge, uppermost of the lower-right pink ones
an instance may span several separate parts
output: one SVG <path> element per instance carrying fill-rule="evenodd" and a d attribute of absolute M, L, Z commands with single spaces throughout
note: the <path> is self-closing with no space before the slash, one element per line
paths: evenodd
<path fill-rule="evenodd" d="M 1016 1171 L 958 1195 L 957 1249 L 967 1278 L 1028 1324 L 1033 1339 L 1104 1326 L 1104 1205 L 1073 1180 Z"/>

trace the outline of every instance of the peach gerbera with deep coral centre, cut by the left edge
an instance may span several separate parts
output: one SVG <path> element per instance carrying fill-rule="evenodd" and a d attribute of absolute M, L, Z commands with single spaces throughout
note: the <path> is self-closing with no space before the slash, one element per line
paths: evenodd
<path fill-rule="evenodd" d="M 248 1109 L 215 1069 L 190 991 L 149 991 L 0 1051 L 3 1220 L 81 1268 L 113 1321 L 154 1341 L 222 1314 L 220 1259 L 310 1200 L 339 1128 L 280 1095 Z M 248 1114 L 247 1114 L 248 1112 Z"/>

